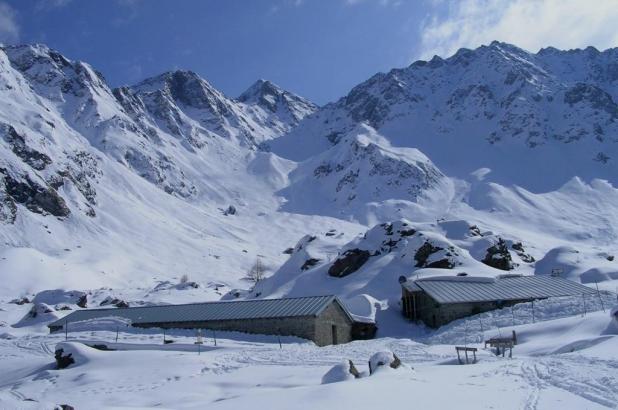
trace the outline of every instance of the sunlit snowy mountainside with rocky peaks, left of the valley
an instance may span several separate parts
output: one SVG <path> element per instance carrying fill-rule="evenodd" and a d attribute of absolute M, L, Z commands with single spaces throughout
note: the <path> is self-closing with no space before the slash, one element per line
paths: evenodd
<path fill-rule="evenodd" d="M 280 130 L 259 123 L 257 103 L 228 99 L 195 74 L 112 91 L 85 63 L 9 46 L 0 102 L 0 270 L 10 278 L 1 290 L 10 297 L 105 286 L 141 299 L 188 274 L 202 286 L 191 297 L 219 298 L 246 286 L 257 255 L 268 269 L 281 263 L 308 226 L 360 229 L 277 212 L 275 192 L 295 164 L 254 148 Z"/>

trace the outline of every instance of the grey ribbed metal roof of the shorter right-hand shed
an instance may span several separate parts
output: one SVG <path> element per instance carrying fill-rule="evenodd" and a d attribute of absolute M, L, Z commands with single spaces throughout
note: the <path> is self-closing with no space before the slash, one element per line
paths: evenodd
<path fill-rule="evenodd" d="M 571 280 L 552 276 L 504 278 L 434 277 L 403 284 L 410 291 L 418 286 L 438 303 L 530 300 L 558 296 L 596 294 L 596 291 Z"/>

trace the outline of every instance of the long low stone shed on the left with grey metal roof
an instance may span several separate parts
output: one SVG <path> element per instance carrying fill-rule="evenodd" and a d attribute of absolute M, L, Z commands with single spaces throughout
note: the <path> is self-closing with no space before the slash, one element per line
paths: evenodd
<path fill-rule="evenodd" d="M 48 325 L 51 332 L 71 323 L 118 317 L 134 327 L 212 329 L 264 335 L 297 336 L 318 346 L 353 339 L 355 321 L 336 296 L 308 296 L 77 310 Z"/>

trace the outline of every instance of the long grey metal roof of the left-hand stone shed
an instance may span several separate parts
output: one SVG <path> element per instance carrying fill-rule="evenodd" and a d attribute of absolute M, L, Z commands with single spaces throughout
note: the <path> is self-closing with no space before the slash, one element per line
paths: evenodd
<path fill-rule="evenodd" d="M 345 306 L 335 296 L 308 296 L 186 305 L 84 309 L 76 310 L 48 326 L 62 326 L 65 322 L 72 323 L 108 317 L 120 317 L 129 319 L 133 324 L 140 324 L 317 316 L 333 301 L 337 301 L 349 316 Z"/>

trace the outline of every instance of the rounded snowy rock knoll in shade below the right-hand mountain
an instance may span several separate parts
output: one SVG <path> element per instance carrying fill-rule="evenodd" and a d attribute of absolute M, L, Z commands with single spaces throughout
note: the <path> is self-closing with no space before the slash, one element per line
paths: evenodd
<path fill-rule="evenodd" d="M 354 217 L 372 223 L 392 218 L 396 206 L 452 193 L 452 183 L 422 152 L 392 147 L 361 125 L 339 144 L 301 163 L 280 193 L 284 210 Z M 388 215 L 388 216 L 387 216 Z"/>

